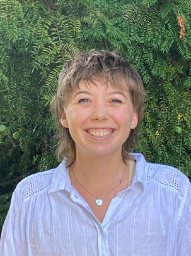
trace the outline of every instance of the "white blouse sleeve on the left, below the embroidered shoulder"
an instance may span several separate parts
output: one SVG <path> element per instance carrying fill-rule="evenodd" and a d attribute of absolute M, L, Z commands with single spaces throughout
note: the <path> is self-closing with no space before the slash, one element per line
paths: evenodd
<path fill-rule="evenodd" d="M 19 189 L 13 192 L 11 205 L 3 224 L 0 240 L 1 256 L 26 256 L 25 212 L 19 197 Z"/>

